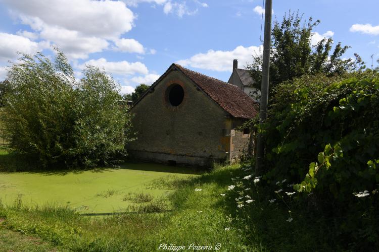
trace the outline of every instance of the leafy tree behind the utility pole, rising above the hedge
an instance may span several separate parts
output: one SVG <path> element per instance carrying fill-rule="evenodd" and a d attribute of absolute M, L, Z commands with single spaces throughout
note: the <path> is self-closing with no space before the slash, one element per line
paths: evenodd
<path fill-rule="evenodd" d="M 302 15 L 291 11 L 288 16 L 283 17 L 281 23 L 274 21 L 270 55 L 270 88 L 303 75 L 320 73 L 328 76 L 343 75 L 354 70 L 357 64 L 363 65 L 364 62 L 358 54 L 355 61 L 341 59 L 349 47 L 342 46 L 339 42 L 332 51 L 331 38 L 324 38 L 312 46 L 313 30 L 319 23 L 319 20 L 313 22 L 312 18 L 303 22 Z M 263 55 L 254 55 L 253 63 L 248 66 L 259 89 L 262 57 Z"/>

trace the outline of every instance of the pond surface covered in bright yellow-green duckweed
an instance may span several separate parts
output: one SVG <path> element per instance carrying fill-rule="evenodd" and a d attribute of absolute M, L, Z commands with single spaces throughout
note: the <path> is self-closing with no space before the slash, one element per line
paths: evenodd
<path fill-rule="evenodd" d="M 27 206 L 68 206 L 81 213 L 128 211 L 135 195 L 154 200 L 171 192 L 160 182 L 197 176 L 190 168 L 128 163 L 121 168 L 67 172 L 0 173 L 0 199 L 13 205 L 18 197 Z M 139 203 L 139 204 L 147 204 Z"/>

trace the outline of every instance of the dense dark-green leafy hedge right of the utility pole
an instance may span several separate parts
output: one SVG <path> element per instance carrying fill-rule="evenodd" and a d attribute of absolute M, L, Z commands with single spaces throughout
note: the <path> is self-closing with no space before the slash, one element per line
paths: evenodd
<path fill-rule="evenodd" d="M 379 74 L 281 83 L 264 128 L 268 184 L 294 183 L 347 249 L 379 247 Z"/>

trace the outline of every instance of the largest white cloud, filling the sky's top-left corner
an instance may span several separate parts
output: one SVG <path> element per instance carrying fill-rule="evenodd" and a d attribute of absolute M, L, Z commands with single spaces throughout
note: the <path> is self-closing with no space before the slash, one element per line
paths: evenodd
<path fill-rule="evenodd" d="M 93 0 L 3 0 L 22 24 L 29 25 L 41 39 L 57 45 L 71 58 L 87 58 L 89 53 L 109 48 L 110 41 L 121 40 L 125 51 L 140 52 L 139 42 L 120 36 L 133 27 L 135 15 L 121 1 Z M 31 38 L 32 33 L 20 32 Z M 126 43 L 127 44 L 127 43 Z M 125 48 L 126 47 L 126 48 Z M 142 48 L 142 49 L 141 49 Z"/>

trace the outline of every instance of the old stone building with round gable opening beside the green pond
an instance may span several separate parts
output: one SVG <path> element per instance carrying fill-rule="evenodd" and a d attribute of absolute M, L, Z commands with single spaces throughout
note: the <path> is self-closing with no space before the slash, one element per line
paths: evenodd
<path fill-rule="evenodd" d="M 239 87 L 172 64 L 133 104 L 137 140 L 128 150 L 133 158 L 173 165 L 233 161 L 250 136 L 235 128 L 257 111 Z"/>

